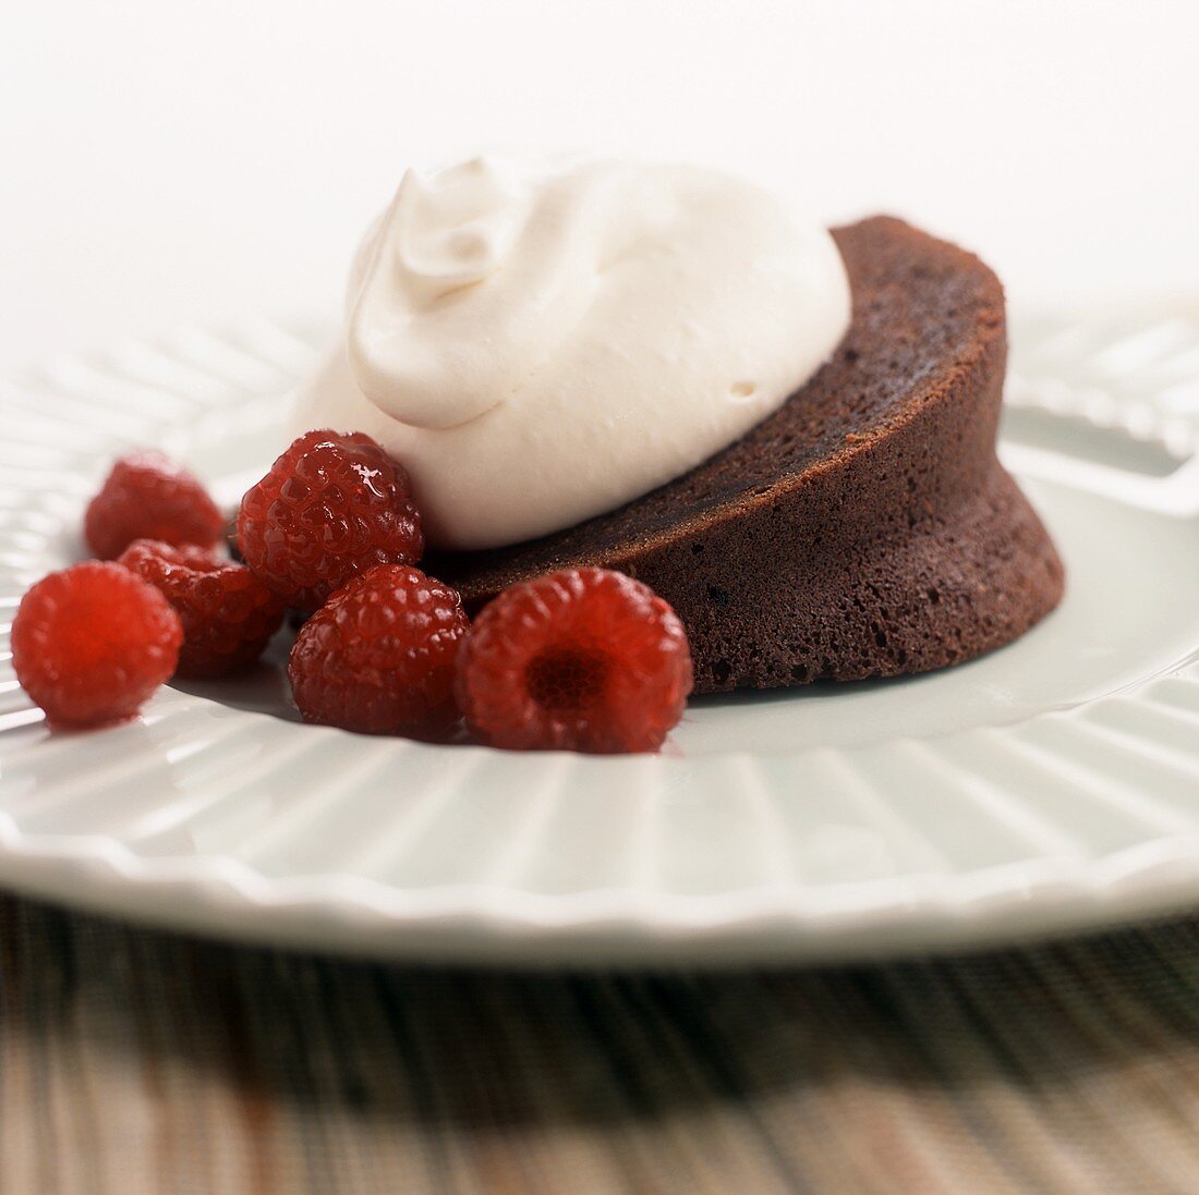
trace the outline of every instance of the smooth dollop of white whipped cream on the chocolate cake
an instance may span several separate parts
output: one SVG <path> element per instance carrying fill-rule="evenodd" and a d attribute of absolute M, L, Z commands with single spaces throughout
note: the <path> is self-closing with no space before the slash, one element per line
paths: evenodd
<path fill-rule="evenodd" d="M 849 315 L 829 233 L 716 170 L 410 170 L 294 422 L 373 435 L 411 473 L 430 543 L 499 547 L 733 443 L 827 360 Z"/>

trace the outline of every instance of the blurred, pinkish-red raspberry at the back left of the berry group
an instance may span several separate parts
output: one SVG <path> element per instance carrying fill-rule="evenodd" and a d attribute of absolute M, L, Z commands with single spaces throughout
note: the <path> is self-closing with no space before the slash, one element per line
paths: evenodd
<path fill-rule="evenodd" d="M 84 515 L 92 555 L 115 560 L 134 539 L 211 548 L 224 519 L 204 487 L 157 452 L 122 457 Z"/>

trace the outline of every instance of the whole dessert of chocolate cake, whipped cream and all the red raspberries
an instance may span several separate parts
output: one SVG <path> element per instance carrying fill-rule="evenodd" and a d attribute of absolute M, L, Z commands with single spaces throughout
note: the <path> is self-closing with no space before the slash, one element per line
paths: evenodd
<path fill-rule="evenodd" d="M 1005 356 L 992 271 L 897 219 L 698 167 L 409 171 L 239 560 L 198 478 L 125 457 L 108 562 L 26 593 L 13 665 L 53 724 L 120 722 L 290 608 L 307 722 L 616 753 L 692 692 L 956 664 L 1062 592 L 995 454 Z"/>

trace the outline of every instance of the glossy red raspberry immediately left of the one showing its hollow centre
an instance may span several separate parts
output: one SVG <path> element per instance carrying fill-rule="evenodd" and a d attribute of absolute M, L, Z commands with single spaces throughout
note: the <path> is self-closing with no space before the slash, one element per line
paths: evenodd
<path fill-rule="evenodd" d="M 457 718 L 454 658 L 469 629 L 457 591 L 408 565 L 376 565 L 301 628 L 291 693 L 305 722 L 435 734 Z"/>

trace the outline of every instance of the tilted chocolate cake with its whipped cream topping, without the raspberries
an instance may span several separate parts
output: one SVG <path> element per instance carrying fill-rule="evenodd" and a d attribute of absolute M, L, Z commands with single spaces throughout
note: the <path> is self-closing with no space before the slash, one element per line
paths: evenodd
<path fill-rule="evenodd" d="M 1023 634 L 1064 569 L 995 454 L 1002 288 L 898 219 L 831 235 L 717 171 L 409 173 L 297 430 L 373 435 L 477 609 L 638 578 L 695 692 L 921 672 Z"/>

